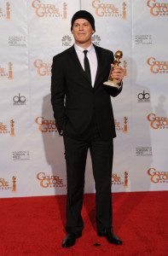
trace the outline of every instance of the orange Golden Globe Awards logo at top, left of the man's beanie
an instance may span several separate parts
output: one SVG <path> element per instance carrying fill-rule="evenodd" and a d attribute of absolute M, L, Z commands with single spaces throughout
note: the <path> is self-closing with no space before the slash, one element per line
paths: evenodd
<path fill-rule="evenodd" d="M 41 3 L 41 0 L 32 1 L 32 8 L 36 9 L 35 13 L 39 18 L 62 17 L 62 20 L 67 20 L 67 3 L 62 3 L 62 13 L 54 4 Z"/>

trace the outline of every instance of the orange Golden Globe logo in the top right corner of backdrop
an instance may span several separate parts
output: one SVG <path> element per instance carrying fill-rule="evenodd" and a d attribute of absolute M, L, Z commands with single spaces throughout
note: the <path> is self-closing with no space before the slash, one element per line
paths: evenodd
<path fill-rule="evenodd" d="M 148 0 L 147 6 L 150 8 L 150 14 L 154 16 L 168 15 L 168 3 L 159 3 L 156 0 Z"/>

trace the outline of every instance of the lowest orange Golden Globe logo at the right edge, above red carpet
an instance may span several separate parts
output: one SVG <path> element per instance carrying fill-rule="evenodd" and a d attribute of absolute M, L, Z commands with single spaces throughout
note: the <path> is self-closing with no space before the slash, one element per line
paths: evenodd
<path fill-rule="evenodd" d="M 168 183 L 168 172 L 158 172 L 154 168 L 148 169 L 148 175 L 152 183 Z"/>

